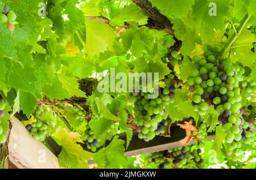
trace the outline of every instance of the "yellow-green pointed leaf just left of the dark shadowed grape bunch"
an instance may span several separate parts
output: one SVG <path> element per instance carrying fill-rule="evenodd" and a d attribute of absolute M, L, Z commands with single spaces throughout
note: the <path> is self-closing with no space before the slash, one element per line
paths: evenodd
<path fill-rule="evenodd" d="M 82 92 L 79 89 L 79 83 L 77 83 L 76 78 L 65 76 L 63 74 L 58 74 L 58 78 L 60 82 L 63 84 L 65 90 L 69 92 L 70 96 L 86 97 L 85 92 Z"/>

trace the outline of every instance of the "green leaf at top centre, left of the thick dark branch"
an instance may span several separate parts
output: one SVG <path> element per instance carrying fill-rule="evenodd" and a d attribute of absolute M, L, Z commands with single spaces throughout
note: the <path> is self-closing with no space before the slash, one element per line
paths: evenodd
<path fill-rule="evenodd" d="M 147 24 L 147 15 L 134 3 L 123 8 L 113 16 L 112 25 L 123 25 L 124 22 L 136 21 L 139 25 Z"/>

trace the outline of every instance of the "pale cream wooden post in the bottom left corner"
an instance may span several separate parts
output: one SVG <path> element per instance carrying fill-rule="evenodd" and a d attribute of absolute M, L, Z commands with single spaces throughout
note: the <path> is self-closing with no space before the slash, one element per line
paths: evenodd
<path fill-rule="evenodd" d="M 3 168 L 59 169 L 58 159 L 49 149 L 35 140 L 15 117 L 11 118 L 7 142 L 0 146 Z"/>

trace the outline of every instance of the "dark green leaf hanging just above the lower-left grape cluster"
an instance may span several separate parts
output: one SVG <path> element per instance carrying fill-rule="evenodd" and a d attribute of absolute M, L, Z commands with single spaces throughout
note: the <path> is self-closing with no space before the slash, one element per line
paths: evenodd
<path fill-rule="evenodd" d="M 34 95 L 30 92 L 19 91 L 19 102 L 20 109 L 26 114 L 27 118 L 30 117 L 30 114 L 34 111 L 35 106 L 38 104 L 38 101 Z"/>

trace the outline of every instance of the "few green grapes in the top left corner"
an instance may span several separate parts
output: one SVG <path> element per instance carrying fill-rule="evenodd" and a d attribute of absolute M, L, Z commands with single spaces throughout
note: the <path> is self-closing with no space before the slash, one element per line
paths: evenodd
<path fill-rule="evenodd" d="M 14 31 L 13 22 L 16 20 L 16 14 L 14 11 L 10 11 L 9 7 L 5 5 L 2 10 L 2 14 L 0 14 L 0 23 L 7 24 L 7 27 L 11 31 Z"/>

